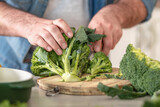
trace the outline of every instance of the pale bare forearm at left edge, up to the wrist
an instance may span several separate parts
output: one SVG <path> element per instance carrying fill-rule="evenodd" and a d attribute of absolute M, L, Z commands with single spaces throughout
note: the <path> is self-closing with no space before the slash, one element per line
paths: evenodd
<path fill-rule="evenodd" d="M 34 22 L 31 19 L 40 18 L 0 2 L 0 35 L 26 37 L 27 26 Z"/>

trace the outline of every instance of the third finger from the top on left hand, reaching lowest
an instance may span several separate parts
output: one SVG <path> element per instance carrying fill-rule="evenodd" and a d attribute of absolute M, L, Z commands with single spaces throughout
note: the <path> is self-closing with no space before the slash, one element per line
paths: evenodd
<path fill-rule="evenodd" d="M 52 49 L 57 53 L 57 55 L 62 54 L 61 48 L 59 47 L 53 36 L 48 31 L 44 30 L 40 35 L 52 47 Z"/>

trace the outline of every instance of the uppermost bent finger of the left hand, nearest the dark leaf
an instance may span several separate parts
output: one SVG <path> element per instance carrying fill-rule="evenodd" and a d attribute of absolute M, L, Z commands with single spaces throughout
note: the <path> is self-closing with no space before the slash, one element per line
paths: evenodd
<path fill-rule="evenodd" d="M 53 24 L 55 24 L 60 29 L 62 29 L 64 31 L 64 33 L 69 38 L 73 37 L 73 32 L 72 32 L 71 28 L 69 27 L 69 25 L 63 19 L 56 19 L 56 20 L 53 21 Z"/>

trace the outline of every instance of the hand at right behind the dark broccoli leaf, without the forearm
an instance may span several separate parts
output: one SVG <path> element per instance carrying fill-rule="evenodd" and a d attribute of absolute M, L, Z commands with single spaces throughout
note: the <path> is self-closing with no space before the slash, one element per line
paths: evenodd
<path fill-rule="evenodd" d="M 105 14 L 104 14 L 105 13 Z M 110 10 L 99 11 L 88 25 L 89 28 L 96 28 L 97 34 L 105 34 L 106 37 L 93 43 L 95 52 L 102 51 L 108 55 L 109 51 L 115 47 L 122 36 L 122 27 L 119 20 Z"/>

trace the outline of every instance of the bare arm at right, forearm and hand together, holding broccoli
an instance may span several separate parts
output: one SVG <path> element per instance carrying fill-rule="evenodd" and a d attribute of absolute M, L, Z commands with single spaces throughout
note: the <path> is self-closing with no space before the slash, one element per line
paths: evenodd
<path fill-rule="evenodd" d="M 97 34 L 107 37 L 91 46 L 95 52 L 106 55 L 115 47 L 122 36 L 122 28 L 131 27 L 143 21 L 147 15 L 141 0 L 118 0 L 117 3 L 102 8 L 90 21 L 88 27 L 96 28 Z"/>

